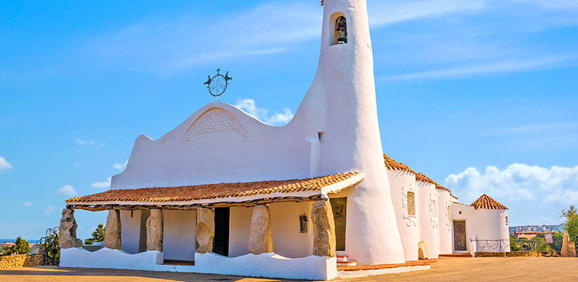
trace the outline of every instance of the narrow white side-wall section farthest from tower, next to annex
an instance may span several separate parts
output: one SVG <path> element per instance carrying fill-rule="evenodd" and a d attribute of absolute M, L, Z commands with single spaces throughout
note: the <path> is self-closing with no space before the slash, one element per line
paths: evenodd
<path fill-rule="evenodd" d="M 451 214 L 452 199 L 447 190 L 438 192 L 438 223 L 440 231 L 440 254 L 453 253 L 453 221 Z M 450 211 L 448 212 L 448 207 Z"/>

